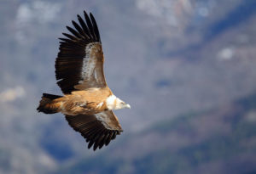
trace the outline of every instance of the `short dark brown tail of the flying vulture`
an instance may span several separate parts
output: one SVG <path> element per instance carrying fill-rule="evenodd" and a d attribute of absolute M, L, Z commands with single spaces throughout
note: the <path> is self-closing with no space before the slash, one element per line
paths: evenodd
<path fill-rule="evenodd" d="M 55 114 L 61 111 L 62 96 L 43 93 L 42 99 L 38 106 L 38 112 L 44 114 Z"/>

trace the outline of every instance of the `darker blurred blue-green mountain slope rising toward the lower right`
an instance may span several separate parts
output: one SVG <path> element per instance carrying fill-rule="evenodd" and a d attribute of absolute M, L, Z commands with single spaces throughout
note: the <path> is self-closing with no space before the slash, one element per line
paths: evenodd
<path fill-rule="evenodd" d="M 154 124 L 56 173 L 253 173 L 255 136 L 253 94 Z"/>

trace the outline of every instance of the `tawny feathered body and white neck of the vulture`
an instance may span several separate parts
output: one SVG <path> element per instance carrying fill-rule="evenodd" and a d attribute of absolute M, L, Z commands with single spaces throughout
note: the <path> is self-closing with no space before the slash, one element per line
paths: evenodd
<path fill-rule="evenodd" d="M 63 97 L 55 98 L 44 106 L 45 109 L 55 109 L 56 112 L 64 115 L 92 115 L 106 110 L 119 109 L 118 107 L 119 98 L 114 96 L 108 87 L 91 87 L 83 91 L 74 91 Z"/>

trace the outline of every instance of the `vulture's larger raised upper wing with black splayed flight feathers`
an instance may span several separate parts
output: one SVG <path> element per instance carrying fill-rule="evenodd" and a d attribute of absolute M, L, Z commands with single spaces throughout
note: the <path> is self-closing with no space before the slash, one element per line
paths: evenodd
<path fill-rule="evenodd" d="M 63 93 L 90 87 L 105 87 L 103 53 L 100 33 L 93 15 L 84 11 L 84 20 L 78 15 L 79 24 L 72 21 L 71 34 L 62 33 L 60 48 L 55 61 L 57 84 Z"/>

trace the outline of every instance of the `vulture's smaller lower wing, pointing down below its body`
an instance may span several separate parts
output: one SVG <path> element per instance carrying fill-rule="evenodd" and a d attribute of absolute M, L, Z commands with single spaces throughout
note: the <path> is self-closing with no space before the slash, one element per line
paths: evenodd
<path fill-rule="evenodd" d="M 66 115 L 68 124 L 89 142 L 88 149 L 92 147 L 102 149 L 113 140 L 116 135 L 123 132 L 118 118 L 113 111 L 108 110 L 95 115 Z"/>

